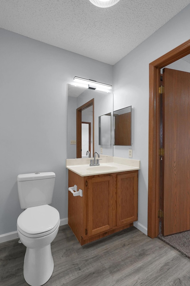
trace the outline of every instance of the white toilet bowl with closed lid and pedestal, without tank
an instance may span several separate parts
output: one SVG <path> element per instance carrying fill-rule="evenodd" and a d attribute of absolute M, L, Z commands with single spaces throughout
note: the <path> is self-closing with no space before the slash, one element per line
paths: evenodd
<path fill-rule="evenodd" d="M 18 217 L 18 236 L 26 246 L 24 279 L 31 286 L 45 284 L 52 275 L 54 263 L 50 244 L 59 225 L 59 212 L 49 205 L 30 207 Z"/>

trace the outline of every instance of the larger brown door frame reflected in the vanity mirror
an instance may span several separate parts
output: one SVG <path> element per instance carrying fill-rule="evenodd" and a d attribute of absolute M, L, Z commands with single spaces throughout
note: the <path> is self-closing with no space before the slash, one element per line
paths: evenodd
<path fill-rule="evenodd" d="M 85 110 L 86 108 L 92 106 L 93 107 L 93 145 L 92 145 L 92 152 L 94 154 L 94 98 L 86 102 L 85 104 L 81 105 L 80 107 L 77 108 L 77 134 L 76 134 L 76 139 L 77 139 L 77 158 L 82 158 L 82 111 Z"/>

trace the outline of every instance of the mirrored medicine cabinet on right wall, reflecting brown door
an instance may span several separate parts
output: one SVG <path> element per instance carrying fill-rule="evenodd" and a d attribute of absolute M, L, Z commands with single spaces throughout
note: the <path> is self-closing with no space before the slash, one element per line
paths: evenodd
<path fill-rule="evenodd" d="M 113 111 L 113 144 L 132 144 L 132 106 Z"/>

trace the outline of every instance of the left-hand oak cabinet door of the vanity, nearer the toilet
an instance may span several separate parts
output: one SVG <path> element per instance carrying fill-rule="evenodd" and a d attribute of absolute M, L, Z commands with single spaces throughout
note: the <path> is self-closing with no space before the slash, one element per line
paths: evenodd
<path fill-rule="evenodd" d="M 113 176 L 88 179 L 88 237 L 116 226 L 116 192 Z"/>

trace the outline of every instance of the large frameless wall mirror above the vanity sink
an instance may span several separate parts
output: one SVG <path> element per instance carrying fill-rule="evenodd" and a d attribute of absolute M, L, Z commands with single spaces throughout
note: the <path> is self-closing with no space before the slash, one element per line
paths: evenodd
<path fill-rule="evenodd" d="M 113 156 L 113 93 L 68 84 L 67 95 L 67 158 L 86 158 L 86 151 L 90 151 L 91 157 L 95 151 L 100 156 Z M 111 114 L 109 123 L 107 114 Z M 99 142 L 99 117 L 102 123 L 106 122 L 106 127 L 102 125 L 102 134 L 106 128 L 106 141 L 103 138 L 102 142 Z"/>

